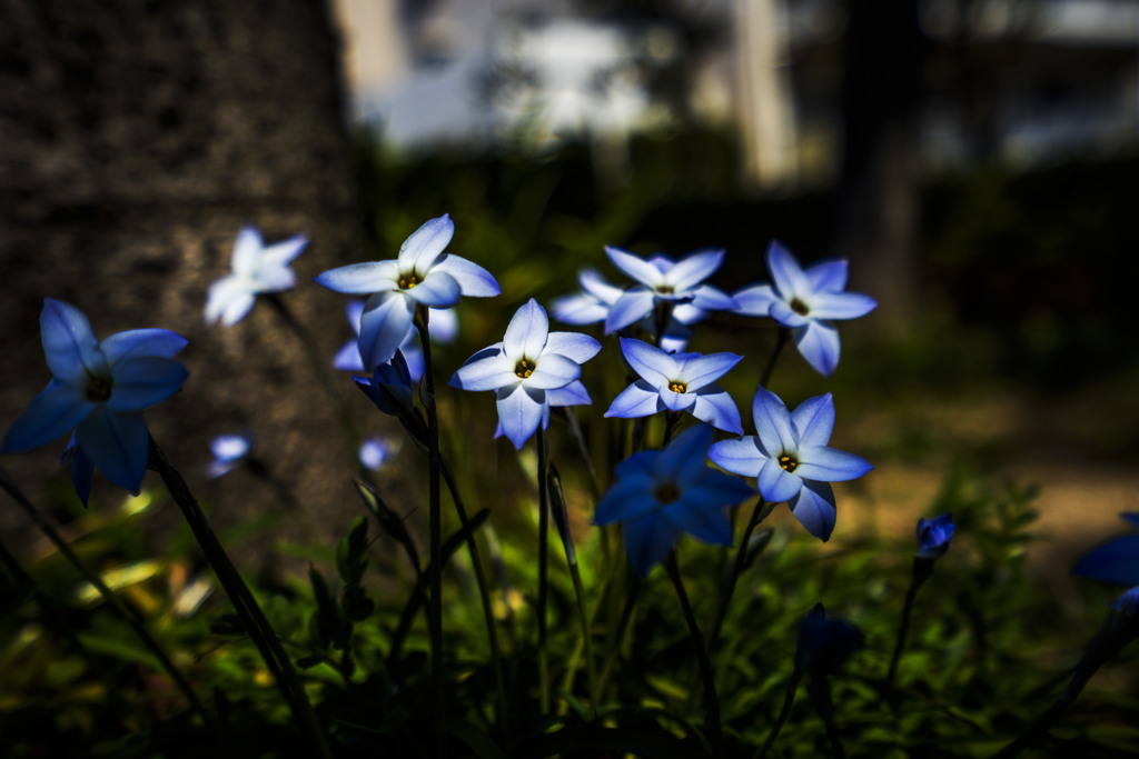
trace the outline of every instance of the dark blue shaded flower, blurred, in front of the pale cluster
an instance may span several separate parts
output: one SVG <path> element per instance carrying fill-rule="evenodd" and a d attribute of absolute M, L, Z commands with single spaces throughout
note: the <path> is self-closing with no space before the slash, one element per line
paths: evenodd
<path fill-rule="evenodd" d="M 731 545 L 727 509 L 754 493 L 707 465 L 712 428 L 685 430 L 663 451 L 642 451 L 617 464 L 617 481 L 597 504 L 593 523 L 622 522 L 625 553 L 641 576 L 664 561 L 681 533 Z"/>

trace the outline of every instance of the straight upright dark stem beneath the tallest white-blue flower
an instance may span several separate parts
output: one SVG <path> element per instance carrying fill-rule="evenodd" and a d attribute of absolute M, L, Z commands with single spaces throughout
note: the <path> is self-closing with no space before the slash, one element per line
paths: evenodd
<path fill-rule="evenodd" d="M 435 371 L 432 365 L 431 331 L 427 321 L 429 312 L 426 306 L 416 307 L 415 324 L 419 331 L 419 341 L 424 350 L 424 406 L 427 411 L 427 456 L 428 456 L 428 506 L 431 534 L 431 673 L 435 694 L 435 715 L 440 720 L 436 729 L 436 748 L 445 750 L 442 719 L 444 717 L 443 701 L 443 562 L 440 561 L 442 542 L 442 514 L 440 513 L 440 454 L 439 454 L 439 411 L 435 406 Z"/>

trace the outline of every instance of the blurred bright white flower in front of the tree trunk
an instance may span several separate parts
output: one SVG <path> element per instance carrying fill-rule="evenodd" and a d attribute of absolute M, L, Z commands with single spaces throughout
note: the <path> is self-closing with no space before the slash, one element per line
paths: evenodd
<path fill-rule="evenodd" d="M 210 286 L 206 322 L 232 327 L 245 319 L 261 292 L 282 292 L 296 284 L 296 273 L 288 267 L 309 245 L 303 234 L 265 247 L 261 232 L 243 226 L 233 242 L 232 273 Z"/>

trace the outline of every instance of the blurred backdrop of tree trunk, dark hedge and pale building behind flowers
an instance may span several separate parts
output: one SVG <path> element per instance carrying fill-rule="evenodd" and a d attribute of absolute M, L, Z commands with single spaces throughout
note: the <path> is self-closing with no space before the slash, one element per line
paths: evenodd
<path fill-rule="evenodd" d="M 1030 559 L 1072 592 L 1072 558 L 1139 510 L 1137 180 L 1134 1 L 0 0 L 0 423 L 49 379 L 44 297 L 100 336 L 185 335 L 191 378 L 151 430 L 220 525 L 290 512 L 233 537 L 271 569 L 280 539 L 330 545 L 360 506 L 277 315 L 203 321 L 241 224 L 311 238 L 284 298 L 331 356 L 344 298 L 311 278 L 450 213 L 451 249 L 503 295 L 461 306 L 443 374 L 582 266 L 617 279 L 604 245 L 723 246 L 732 289 L 778 238 L 850 258 L 880 303 L 830 380 L 788 354 L 772 388 L 833 391 L 835 444 L 877 464 L 839 492 L 834 545 L 904 535 L 947 473 L 989 472 L 1040 487 Z M 729 386 L 748 406 L 773 331 L 713 325 L 704 349 L 752 364 Z M 362 431 L 394 432 L 342 379 Z M 462 434 L 507 467 L 485 405 Z M 243 429 L 298 505 L 206 479 L 210 439 Z M 2 464 L 73 522 L 64 444 Z M 413 503 L 405 453 L 378 477 Z M 97 504 L 118 498 L 97 478 Z M 18 512 L 0 527 L 36 550 Z"/>

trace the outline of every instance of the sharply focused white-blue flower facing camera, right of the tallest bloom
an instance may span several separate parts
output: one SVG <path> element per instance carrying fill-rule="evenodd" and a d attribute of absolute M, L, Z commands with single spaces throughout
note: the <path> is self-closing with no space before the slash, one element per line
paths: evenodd
<path fill-rule="evenodd" d="M 577 332 L 550 332 L 546 310 L 533 298 L 515 313 L 501 343 L 483 348 L 459 368 L 450 385 L 462 390 L 494 390 L 499 424 L 522 446 L 549 424 L 550 406 L 591 403 L 579 379 L 581 364 L 601 344 Z"/>

